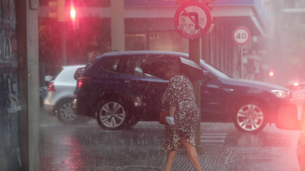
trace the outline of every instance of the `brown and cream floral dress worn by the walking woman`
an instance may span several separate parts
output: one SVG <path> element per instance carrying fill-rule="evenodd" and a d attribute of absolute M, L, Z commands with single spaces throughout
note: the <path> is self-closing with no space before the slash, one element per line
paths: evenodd
<path fill-rule="evenodd" d="M 165 143 L 162 151 L 170 152 L 184 148 L 180 139 L 195 145 L 195 131 L 199 117 L 199 108 L 195 103 L 194 89 L 191 81 L 183 75 L 176 75 L 170 79 L 162 96 L 162 104 L 166 110 L 170 105 L 177 106 L 174 114 L 175 129 L 165 126 Z"/>

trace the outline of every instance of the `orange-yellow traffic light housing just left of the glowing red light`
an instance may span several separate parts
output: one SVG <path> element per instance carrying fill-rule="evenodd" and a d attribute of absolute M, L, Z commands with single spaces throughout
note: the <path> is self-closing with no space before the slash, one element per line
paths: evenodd
<path fill-rule="evenodd" d="M 49 17 L 57 19 L 59 22 L 65 22 L 65 0 L 57 0 L 49 2 L 50 8 L 56 8 L 55 12 L 49 12 Z"/>

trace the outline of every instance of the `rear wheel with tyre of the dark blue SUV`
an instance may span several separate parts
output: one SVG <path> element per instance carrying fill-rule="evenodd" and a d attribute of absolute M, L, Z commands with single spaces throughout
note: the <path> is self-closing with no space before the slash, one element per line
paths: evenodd
<path fill-rule="evenodd" d="M 102 103 L 98 108 L 96 119 L 99 125 L 107 130 L 118 130 L 127 125 L 126 105 L 119 100 Z"/>

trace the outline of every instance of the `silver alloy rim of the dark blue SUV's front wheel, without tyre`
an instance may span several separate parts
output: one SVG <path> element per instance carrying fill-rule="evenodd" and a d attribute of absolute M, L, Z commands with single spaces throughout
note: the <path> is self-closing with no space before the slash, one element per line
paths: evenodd
<path fill-rule="evenodd" d="M 263 111 L 256 105 L 242 106 L 237 112 L 237 124 L 245 131 L 254 131 L 262 126 L 264 121 Z"/>

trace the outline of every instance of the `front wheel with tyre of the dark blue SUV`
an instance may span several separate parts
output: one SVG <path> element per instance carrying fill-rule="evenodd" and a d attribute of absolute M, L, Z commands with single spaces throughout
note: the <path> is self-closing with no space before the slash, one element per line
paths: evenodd
<path fill-rule="evenodd" d="M 233 115 L 235 127 L 241 132 L 257 133 L 266 126 L 266 111 L 258 102 L 241 103 Z"/>

